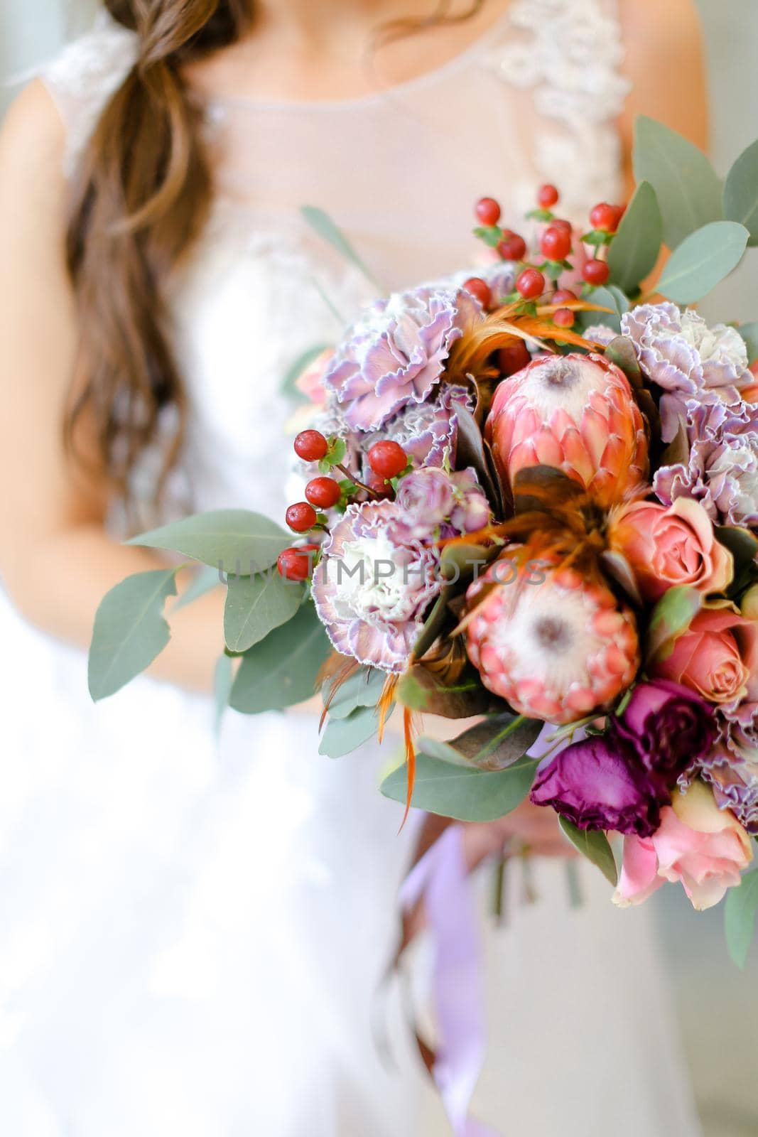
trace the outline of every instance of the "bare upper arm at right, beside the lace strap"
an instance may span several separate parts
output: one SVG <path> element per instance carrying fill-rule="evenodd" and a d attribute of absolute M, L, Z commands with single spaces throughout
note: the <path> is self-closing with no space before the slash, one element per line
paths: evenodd
<path fill-rule="evenodd" d="M 620 121 L 631 193 L 636 116 L 657 118 L 706 149 L 708 96 L 700 19 L 693 0 L 622 0 L 620 19 L 624 73 L 632 81 Z"/>

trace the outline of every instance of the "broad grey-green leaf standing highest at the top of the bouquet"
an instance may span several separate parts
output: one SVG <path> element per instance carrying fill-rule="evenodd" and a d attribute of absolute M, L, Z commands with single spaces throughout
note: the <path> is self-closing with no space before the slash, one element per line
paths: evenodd
<path fill-rule="evenodd" d="M 705 153 L 676 131 L 640 115 L 634 124 L 634 177 L 656 191 L 663 236 L 675 249 L 722 213 L 722 183 Z"/>

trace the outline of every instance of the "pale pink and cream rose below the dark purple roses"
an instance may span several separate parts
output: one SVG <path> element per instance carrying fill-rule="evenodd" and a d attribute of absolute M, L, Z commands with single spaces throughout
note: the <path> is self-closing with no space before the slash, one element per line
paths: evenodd
<path fill-rule="evenodd" d="M 752 844 L 740 822 L 730 810 L 719 810 L 709 787 L 697 781 L 664 806 L 652 837 L 624 838 L 614 904 L 641 904 L 666 880 L 681 880 L 694 908 L 710 908 L 740 883 L 751 860 Z"/>

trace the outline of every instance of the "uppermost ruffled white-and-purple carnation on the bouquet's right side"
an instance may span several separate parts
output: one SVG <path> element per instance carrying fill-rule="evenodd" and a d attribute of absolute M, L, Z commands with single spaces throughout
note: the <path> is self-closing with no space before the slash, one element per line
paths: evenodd
<path fill-rule="evenodd" d="M 640 366 L 663 391 L 665 442 L 676 435 L 686 404 L 707 389 L 724 402 L 739 404 L 739 388 L 753 381 L 740 333 L 725 324 L 708 324 L 697 312 L 675 304 L 642 304 L 622 316 L 622 332 L 636 349 Z"/>

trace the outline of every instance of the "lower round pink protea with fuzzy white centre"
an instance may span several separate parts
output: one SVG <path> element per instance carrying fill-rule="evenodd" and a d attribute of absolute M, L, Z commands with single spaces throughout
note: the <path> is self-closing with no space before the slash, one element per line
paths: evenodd
<path fill-rule="evenodd" d="M 474 605 L 488 582 L 500 582 L 468 623 L 468 655 L 484 686 L 519 714 L 574 722 L 606 709 L 634 679 L 634 617 L 603 584 L 559 568 L 556 558 L 539 564 L 539 575 L 516 575 L 497 561 L 470 586 Z"/>

